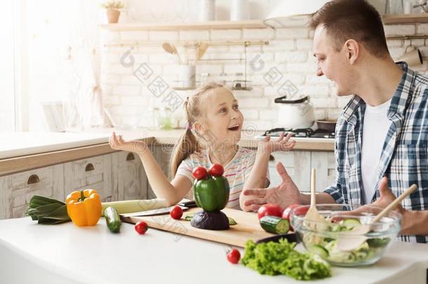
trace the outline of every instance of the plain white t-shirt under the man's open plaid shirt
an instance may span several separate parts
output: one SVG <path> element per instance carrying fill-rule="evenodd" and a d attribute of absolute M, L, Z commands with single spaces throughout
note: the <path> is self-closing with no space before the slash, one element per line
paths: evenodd
<path fill-rule="evenodd" d="M 366 204 L 371 203 L 375 194 L 380 155 L 392 123 L 387 118 L 390 104 L 391 100 L 377 107 L 370 107 L 366 104 L 366 111 L 364 112 L 361 175 L 363 178 L 363 201 Z"/>

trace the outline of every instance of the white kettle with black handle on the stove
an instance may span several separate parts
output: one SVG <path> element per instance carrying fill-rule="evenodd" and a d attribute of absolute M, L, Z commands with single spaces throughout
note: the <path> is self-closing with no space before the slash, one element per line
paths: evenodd
<path fill-rule="evenodd" d="M 277 97 L 278 120 L 276 127 L 286 129 L 311 128 L 315 122 L 314 107 L 309 102 L 309 96 L 297 100 L 287 100 L 287 96 Z"/>

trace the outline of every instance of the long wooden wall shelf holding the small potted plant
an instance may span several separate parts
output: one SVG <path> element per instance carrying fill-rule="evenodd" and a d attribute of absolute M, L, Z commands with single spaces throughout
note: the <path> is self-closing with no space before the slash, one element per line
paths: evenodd
<path fill-rule="evenodd" d="M 265 29 L 262 20 L 211 21 L 211 22 L 163 22 L 163 23 L 130 23 L 100 25 L 102 29 L 112 32 L 131 31 L 182 31 L 194 29 Z"/>

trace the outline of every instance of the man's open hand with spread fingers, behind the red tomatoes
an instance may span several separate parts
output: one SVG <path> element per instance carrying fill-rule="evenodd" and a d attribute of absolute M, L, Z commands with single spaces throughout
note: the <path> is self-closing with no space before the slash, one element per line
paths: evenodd
<path fill-rule="evenodd" d="M 269 189 L 244 189 L 244 196 L 251 196 L 244 203 L 244 211 L 257 211 L 265 203 L 274 203 L 285 209 L 291 204 L 300 204 L 300 192 L 297 189 L 286 168 L 282 163 L 276 164 L 276 171 L 281 175 L 283 182 L 278 187 Z"/>

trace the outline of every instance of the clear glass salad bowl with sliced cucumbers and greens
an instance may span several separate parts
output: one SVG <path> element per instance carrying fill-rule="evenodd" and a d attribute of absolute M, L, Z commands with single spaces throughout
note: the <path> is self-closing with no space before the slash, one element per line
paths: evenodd
<path fill-rule="evenodd" d="M 319 204 L 318 212 L 329 222 L 305 220 L 309 205 L 293 208 L 290 213 L 291 226 L 308 252 L 313 252 L 335 266 L 362 266 L 374 264 L 401 229 L 401 214 L 389 212 L 380 222 L 371 225 L 371 231 L 361 236 L 366 241 L 351 251 L 337 248 L 337 238 L 349 240 L 354 235 L 347 235 L 355 226 L 370 224 L 371 220 L 383 208 L 359 205 Z M 345 241 L 342 240 L 342 241 Z"/>

